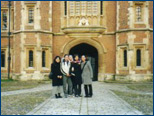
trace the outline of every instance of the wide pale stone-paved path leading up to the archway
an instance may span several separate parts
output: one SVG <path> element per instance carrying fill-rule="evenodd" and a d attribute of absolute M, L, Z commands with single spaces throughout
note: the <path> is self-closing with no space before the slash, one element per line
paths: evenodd
<path fill-rule="evenodd" d="M 94 82 L 92 98 L 51 97 L 27 115 L 142 115 L 110 89 L 103 83 Z"/>

